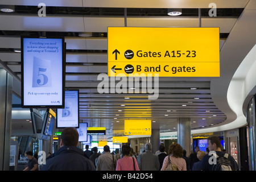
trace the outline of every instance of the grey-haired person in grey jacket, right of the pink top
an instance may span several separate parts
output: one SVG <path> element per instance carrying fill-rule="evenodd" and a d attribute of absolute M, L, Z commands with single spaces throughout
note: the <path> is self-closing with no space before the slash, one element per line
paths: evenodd
<path fill-rule="evenodd" d="M 158 171 L 160 163 L 158 156 L 152 153 L 151 143 L 145 144 L 145 152 L 139 154 L 137 163 L 140 171 Z"/>

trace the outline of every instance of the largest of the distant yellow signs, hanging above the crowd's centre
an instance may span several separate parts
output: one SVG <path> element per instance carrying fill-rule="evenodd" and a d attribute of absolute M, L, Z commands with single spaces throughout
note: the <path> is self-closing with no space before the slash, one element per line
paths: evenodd
<path fill-rule="evenodd" d="M 125 135 L 151 135 L 151 120 L 125 120 Z"/>

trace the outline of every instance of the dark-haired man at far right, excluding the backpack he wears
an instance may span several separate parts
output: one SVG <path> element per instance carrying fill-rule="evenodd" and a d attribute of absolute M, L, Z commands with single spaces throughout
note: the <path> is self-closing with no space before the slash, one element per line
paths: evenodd
<path fill-rule="evenodd" d="M 209 137 L 208 138 L 208 149 L 209 154 L 205 155 L 201 160 L 199 168 L 203 171 L 212 171 L 216 168 L 217 159 L 219 157 L 226 157 L 231 164 L 233 170 L 238 170 L 238 165 L 236 160 L 231 155 L 226 154 L 221 151 L 221 142 L 218 137 Z"/>

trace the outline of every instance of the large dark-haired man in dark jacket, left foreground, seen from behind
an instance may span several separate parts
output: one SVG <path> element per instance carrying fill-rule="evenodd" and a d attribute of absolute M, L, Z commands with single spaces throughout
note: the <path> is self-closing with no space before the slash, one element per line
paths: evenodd
<path fill-rule="evenodd" d="M 65 128 L 60 137 L 60 149 L 49 156 L 42 171 L 95 171 L 94 164 L 77 148 L 79 134 L 73 127 Z"/>

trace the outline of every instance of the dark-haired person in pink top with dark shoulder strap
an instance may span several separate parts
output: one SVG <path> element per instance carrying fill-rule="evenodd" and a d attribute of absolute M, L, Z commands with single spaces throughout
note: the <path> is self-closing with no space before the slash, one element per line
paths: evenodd
<path fill-rule="evenodd" d="M 115 171 L 139 171 L 136 158 L 129 156 L 131 147 L 127 144 L 122 146 L 123 158 L 117 160 Z"/>

